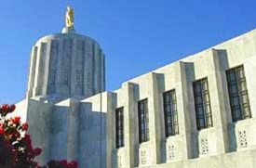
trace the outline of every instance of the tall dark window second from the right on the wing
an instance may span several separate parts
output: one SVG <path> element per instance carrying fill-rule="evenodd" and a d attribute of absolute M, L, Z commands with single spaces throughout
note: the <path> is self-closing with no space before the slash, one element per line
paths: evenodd
<path fill-rule="evenodd" d="M 195 97 L 195 115 L 197 129 L 201 130 L 212 126 L 208 79 L 195 81 L 194 97 Z"/>

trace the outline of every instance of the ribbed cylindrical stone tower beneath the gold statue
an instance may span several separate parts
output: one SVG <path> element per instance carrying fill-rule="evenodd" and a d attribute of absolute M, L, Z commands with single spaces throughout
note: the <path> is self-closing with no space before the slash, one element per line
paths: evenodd
<path fill-rule="evenodd" d="M 96 41 L 66 27 L 33 46 L 27 97 L 90 97 L 105 90 L 104 54 Z"/>

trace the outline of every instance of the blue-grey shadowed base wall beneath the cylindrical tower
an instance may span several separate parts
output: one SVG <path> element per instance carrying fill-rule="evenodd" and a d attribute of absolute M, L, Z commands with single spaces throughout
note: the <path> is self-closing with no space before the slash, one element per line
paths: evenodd
<path fill-rule="evenodd" d="M 43 149 L 40 164 L 67 159 L 76 160 L 79 167 L 106 167 L 105 111 L 93 111 L 90 103 L 74 99 L 57 105 L 29 101 L 29 134 L 34 147 Z"/>

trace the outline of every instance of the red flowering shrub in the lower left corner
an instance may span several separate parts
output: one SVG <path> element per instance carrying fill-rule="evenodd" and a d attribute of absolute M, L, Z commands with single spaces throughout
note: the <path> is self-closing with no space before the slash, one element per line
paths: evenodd
<path fill-rule="evenodd" d="M 42 152 L 33 148 L 31 137 L 25 135 L 28 123 L 21 123 L 20 117 L 7 118 L 15 110 L 15 105 L 0 107 L 0 167 L 1 168 L 77 168 L 77 162 L 50 161 L 39 166 L 34 161 Z M 24 136 L 22 136 L 24 135 Z"/>

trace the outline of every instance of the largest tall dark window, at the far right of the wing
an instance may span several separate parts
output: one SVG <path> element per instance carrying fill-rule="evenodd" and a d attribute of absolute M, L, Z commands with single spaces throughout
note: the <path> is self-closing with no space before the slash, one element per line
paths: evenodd
<path fill-rule="evenodd" d="M 251 117 L 244 67 L 226 71 L 233 122 Z"/>

